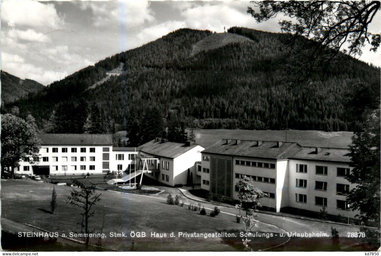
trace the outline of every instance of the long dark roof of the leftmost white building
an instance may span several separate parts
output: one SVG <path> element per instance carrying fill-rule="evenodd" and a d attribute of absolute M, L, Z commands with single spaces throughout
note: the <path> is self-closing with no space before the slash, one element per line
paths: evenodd
<path fill-rule="evenodd" d="M 37 134 L 41 145 L 112 145 L 112 134 Z"/>

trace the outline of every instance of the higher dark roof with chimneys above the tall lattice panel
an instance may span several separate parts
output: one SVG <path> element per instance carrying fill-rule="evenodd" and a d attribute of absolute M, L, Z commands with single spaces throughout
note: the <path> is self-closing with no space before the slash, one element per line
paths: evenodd
<path fill-rule="evenodd" d="M 287 159 L 296 151 L 299 151 L 301 146 L 296 142 L 281 142 L 277 147 L 277 142 L 263 141 L 257 146 L 256 140 L 220 140 L 214 145 L 202 151 L 202 153 L 211 153 L 219 155 L 233 155 L 249 158 L 262 159 Z"/>

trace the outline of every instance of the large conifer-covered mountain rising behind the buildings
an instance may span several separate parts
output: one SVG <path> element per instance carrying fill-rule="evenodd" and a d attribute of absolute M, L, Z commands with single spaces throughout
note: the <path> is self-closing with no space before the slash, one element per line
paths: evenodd
<path fill-rule="evenodd" d="M 349 60 L 345 66 L 328 65 L 324 72 L 313 74 L 311 81 L 286 88 L 284 66 L 298 62 L 297 57 L 292 63 L 280 61 L 280 34 L 240 27 L 228 32 L 250 40 L 232 40 L 215 48 L 205 42 L 218 45 L 215 40 L 224 40 L 229 33 L 213 37 L 210 31 L 179 29 L 53 82 L 6 105 L 4 111 L 14 105 L 21 113 L 30 111 L 40 129 L 49 125 L 53 110 L 58 109 L 74 111 L 65 116 L 82 119 L 82 126 L 89 114 L 84 111 L 78 116 L 75 109 L 96 103 L 109 126 L 112 122 L 120 125 L 118 129 L 131 129 L 131 122 L 147 126 L 163 121 L 164 128 L 331 131 L 361 125 L 348 111 L 359 85 L 371 92 L 369 97 L 379 97 L 380 69 L 358 60 Z M 208 36 L 211 39 L 197 44 L 192 54 L 194 45 Z M 120 76 L 86 90 L 120 63 L 124 63 Z M 292 80 L 292 74 L 288 78 Z M 62 108 L 65 104 L 71 108 Z M 144 116 L 154 119 L 144 121 Z"/>

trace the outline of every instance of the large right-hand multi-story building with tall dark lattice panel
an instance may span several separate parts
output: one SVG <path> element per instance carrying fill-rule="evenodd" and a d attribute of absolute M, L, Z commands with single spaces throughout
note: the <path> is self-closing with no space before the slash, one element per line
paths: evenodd
<path fill-rule="evenodd" d="M 346 211 L 345 196 L 350 190 L 345 176 L 349 150 L 301 147 L 295 142 L 220 140 L 202 151 L 201 188 L 226 199 L 238 200 L 236 184 L 245 176 L 253 179 L 265 197 L 263 206 L 279 212 L 296 208 L 354 217 Z"/>

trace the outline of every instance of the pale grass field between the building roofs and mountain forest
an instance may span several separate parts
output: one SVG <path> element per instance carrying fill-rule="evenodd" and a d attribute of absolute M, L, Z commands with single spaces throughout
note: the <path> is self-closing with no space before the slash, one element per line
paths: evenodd
<path fill-rule="evenodd" d="M 190 130 L 187 129 L 189 134 Z M 304 147 L 348 148 L 352 143 L 353 132 L 323 132 L 318 130 L 194 130 L 196 143 L 204 148 L 224 138 L 240 140 L 270 140 L 298 142 Z M 118 132 L 122 140 L 126 132 Z"/>

